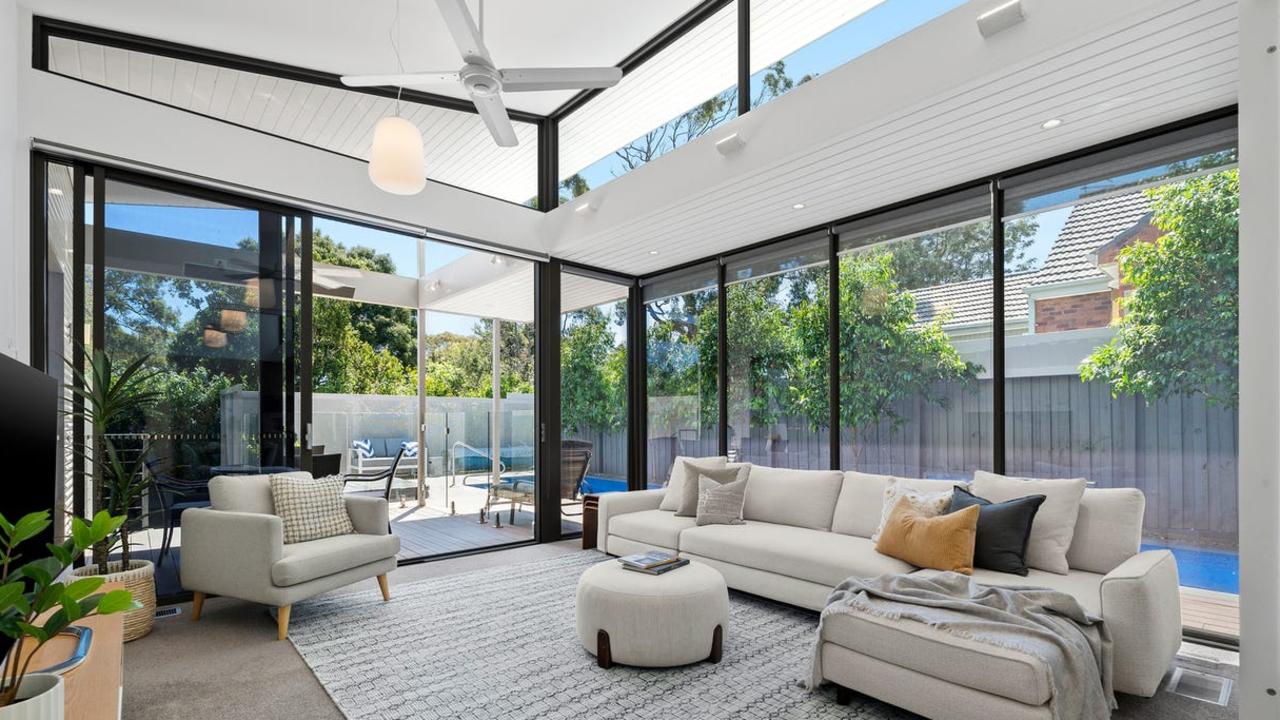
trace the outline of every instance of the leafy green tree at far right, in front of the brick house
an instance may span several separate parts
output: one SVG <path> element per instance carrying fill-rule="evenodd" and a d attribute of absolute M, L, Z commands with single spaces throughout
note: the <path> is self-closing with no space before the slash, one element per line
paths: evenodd
<path fill-rule="evenodd" d="M 1240 177 L 1231 169 L 1148 190 L 1164 233 L 1119 254 L 1132 288 L 1116 334 L 1080 365 L 1112 395 L 1148 402 L 1174 395 L 1239 404 Z"/>

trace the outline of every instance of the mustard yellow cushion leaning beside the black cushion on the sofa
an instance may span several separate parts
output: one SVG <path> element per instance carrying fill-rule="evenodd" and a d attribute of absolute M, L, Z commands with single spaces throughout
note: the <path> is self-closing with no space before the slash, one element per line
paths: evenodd
<path fill-rule="evenodd" d="M 972 575 L 977 538 L 977 505 L 929 518 L 902 497 L 884 521 L 876 550 L 916 568 Z"/>

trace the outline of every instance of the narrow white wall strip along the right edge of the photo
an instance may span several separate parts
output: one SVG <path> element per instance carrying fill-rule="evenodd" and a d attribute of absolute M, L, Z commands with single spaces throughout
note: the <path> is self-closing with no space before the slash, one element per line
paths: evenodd
<path fill-rule="evenodd" d="M 1280 8 L 1240 0 L 1240 717 L 1280 715 Z"/>

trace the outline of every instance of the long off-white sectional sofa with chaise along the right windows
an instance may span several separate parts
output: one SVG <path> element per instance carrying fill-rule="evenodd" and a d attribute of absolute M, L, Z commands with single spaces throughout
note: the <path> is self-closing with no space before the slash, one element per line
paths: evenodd
<path fill-rule="evenodd" d="M 865 473 L 753 466 L 741 525 L 698 527 L 692 518 L 659 510 L 666 489 L 608 493 L 600 496 L 596 547 L 609 555 L 677 551 L 719 570 L 733 589 L 820 610 L 831 589 L 849 577 L 932 573 L 878 553 L 870 541 L 888 480 Z M 956 484 L 900 482 L 922 491 Z M 978 569 L 974 579 L 1073 594 L 1110 629 L 1115 689 L 1149 697 L 1178 652 L 1181 615 L 1172 555 L 1139 551 L 1143 511 L 1137 489 L 1085 489 L 1068 574 L 1033 569 L 1019 577 Z M 824 623 L 828 680 L 932 717 L 969 716 L 969 711 L 983 720 L 1047 717 L 1048 671 L 1037 659 L 957 642 L 925 626 L 874 625 L 850 615 Z M 956 715 L 959 697 L 973 702 Z"/>

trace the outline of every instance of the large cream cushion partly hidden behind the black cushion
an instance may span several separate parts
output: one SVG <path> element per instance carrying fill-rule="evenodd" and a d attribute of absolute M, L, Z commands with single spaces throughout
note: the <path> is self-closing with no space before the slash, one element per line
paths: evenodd
<path fill-rule="evenodd" d="M 1044 496 L 1044 502 L 1032 521 L 1027 565 L 1060 575 L 1070 569 L 1066 551 L 1075 536 L 1075 520 L 1080 514 L 1080 496 L 1084 495 L 1085 486 L 1083 478 L 1039 480 L 1007 478 L 984 470 L 973 474 L 973 493 L 992 502 L 1029 495 Z"/>

